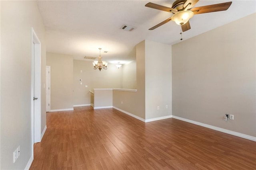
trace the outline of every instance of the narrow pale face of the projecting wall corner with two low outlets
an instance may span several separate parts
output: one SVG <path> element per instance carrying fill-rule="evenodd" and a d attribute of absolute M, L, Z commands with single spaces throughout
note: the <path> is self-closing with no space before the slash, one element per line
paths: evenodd
<path fill-rule="evenodd" d="M 172 46 L 145 40 L 145 63 L 146 119 L 172 115 Z"/>

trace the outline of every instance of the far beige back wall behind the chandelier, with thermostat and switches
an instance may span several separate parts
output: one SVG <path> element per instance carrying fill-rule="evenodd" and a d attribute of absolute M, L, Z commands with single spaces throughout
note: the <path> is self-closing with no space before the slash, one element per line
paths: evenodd
<path fill-rule="evenodd" d="M 109 63 L 107 70 L 100 71 L 93 69 L 91 61 L 73 62 L 74 105 L 91 104 L 89 91 L 93 92 L 94 88 L 122 88 L 122 67 L 118 69 L 115 64 Z M 82 85 L 79 82 L 80 78 Z"/>

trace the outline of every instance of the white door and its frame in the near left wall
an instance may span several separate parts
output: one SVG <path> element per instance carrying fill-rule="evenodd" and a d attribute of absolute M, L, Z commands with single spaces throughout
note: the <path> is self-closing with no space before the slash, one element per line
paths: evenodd
<path fill-rule="evenodd" d="M 36 97 L 38 100 L 33 100 Z M 41 142 L 41 42 L 31 28 L 31 141 L 34 158 L 34 143 Z"/>

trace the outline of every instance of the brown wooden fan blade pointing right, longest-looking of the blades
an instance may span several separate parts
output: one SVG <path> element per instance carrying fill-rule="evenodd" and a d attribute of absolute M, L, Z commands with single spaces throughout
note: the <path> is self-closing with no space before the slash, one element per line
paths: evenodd
<path fill-rule="evenodd" d="M 207 5 L 207 6 L 200 6 L 193 8 L 191 11 L 194 12 L 194 14 L 204 14 L 208 12 L 217 12 L 217 11 L 226 11 L 232 2 L 224 2 L 220 4 L 213 4 L 213 5 Z"/>

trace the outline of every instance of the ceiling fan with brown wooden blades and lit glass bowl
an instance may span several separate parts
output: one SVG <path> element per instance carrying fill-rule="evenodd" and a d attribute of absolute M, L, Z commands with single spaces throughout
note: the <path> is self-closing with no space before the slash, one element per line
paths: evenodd
<path fill-rule="evenodd" d="M 161 23 L 158 23 L 157 25 L 150 28 L 149 30 L 156 29 L 157 27 L 160 27 L 161 25 L 164 25 L 165 23 L 173 20 L 178 25 L 181 25 L 183 32 L 188 31 L 191 28 L 189 19 L 192 18 L 194 14 L 204 14 L 208 12 L 225 11 L 232 4 L 232 2 L 224 2 L 220 4 L 213 4 L 213 5 L 200 6 L 200 7 L 193 8 L 193 6 L 198 1 L 199 0 L 176 0 L 172 4 L 172 8 L 149 2 L 148 4 L 145 5 L 146 7 L 154 8 L 154 9 L 162 10 L 166 12 L 171 12 L 173 14 L 172 17 L 162 21 Z"/>

